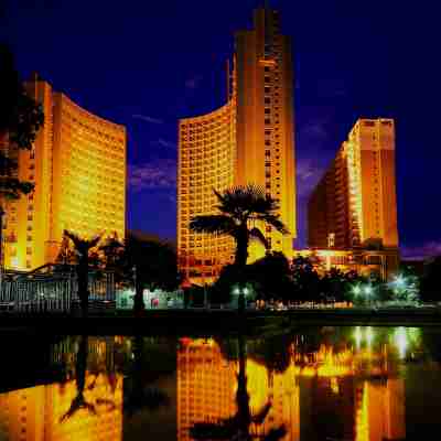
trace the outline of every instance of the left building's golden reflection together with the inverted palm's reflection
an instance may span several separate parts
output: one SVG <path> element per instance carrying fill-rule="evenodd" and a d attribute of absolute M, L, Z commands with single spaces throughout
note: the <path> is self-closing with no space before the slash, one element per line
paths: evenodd
<path fill-rule="evenodd" d="M 0 395 L 0 440 L 122 439 L 122 375 L 115 374 L 112 338 L 83 338 L 53 351 L 65 381 Z"/>

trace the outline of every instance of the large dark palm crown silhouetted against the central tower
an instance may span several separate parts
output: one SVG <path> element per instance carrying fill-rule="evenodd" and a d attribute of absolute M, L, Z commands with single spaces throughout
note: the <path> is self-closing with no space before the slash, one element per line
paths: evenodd
<path fill-rule="evenodd" d="M 277 213 L 279 205 L 275 198 L 265 194 L 261 186 L 248 184 L 214 191 L 218 200 L 215 215 L 195 216 L 190 222 L 190 228 L 196 233 L 212 233 L 232 236 L 236 241 L 234 265 L 243 270 L 247 265 L 248 245 L 251 239 L 260 241 L 266 249 L 268 241 L 255 223 L 273 227 L 281 234 L 288 234 L 288 228 Z"/>

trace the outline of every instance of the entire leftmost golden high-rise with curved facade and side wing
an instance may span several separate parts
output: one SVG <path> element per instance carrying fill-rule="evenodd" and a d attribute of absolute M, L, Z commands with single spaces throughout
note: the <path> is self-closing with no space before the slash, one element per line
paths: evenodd
<path fill-rule="evenodd" d="M 32 149 L 18 153 L 18 175 L 33 182 L 34 192 L 6 203 L 3 262 L 20 270 L 53 262 L 64 229 L 120 238 L 126 229 L 126 128 L 36 75 L 25 89 L 41 104 L 44 126 Z"/>

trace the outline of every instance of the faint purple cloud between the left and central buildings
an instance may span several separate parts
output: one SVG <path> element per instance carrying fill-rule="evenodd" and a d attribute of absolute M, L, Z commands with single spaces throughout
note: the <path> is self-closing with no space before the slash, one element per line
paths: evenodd
<path fill-rule="evenodd" d="M 128 184 L 133 192 L 174 190 L 176 187 L 176 162 L 170 159 L 160 159 L 139 165 L 129 165 Z"/>

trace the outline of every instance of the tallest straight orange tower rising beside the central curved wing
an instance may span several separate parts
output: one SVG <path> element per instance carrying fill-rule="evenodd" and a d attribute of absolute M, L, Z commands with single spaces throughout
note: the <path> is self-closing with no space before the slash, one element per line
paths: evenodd
<path fill-rule="evenodd" d="M 290 235 L 265 229 L 272 250 L 290 255 L 297 237 L 293 78 L 290 39 L 278 11 L 259 8 L 254 29 L 236 34 L 237 169 L 235 183 L 257 183 L 280 204 Z M 265 255 L 250 249 L 250 260 Z"/>

